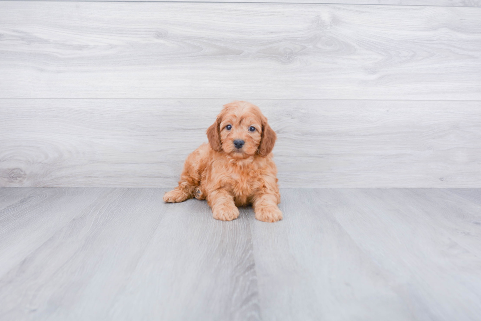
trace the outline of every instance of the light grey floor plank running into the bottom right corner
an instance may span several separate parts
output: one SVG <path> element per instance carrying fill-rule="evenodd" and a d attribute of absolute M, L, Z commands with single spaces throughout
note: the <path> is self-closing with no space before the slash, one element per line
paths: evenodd
<path fill-rule="evenodd" d="M 399 190 L 316 192 L 318 208 L 388 275 L 411 313 L 407 320 L 479 320 L 481 257 L 453 239 L 454 228 L 439 228 L 439 212 L 415 210 L 412 198 Z M 386 193 L 392 197 L 384 198 Z M 399 201 L 393 204 L 393 198 Z"/>

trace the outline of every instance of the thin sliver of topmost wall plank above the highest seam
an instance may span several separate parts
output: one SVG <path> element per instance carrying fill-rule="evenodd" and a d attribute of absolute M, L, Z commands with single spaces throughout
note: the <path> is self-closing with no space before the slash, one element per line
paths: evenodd
<path fill-rule="evenodd" d="M 30 0 L 16 0 L 30 1 Z M 41 1 L 41 0 L 31 0 Z M 78 0 L 52 0 L 52 1 L 78 1 Z M 119 0 L 91 0 L 91 1 L 119 1 Z M 143 0 L 120 0 L 120 1 L 143 1 Z M 322 4 L 381 4 L 381 5 L 429 5 L 429 6 L 454 6 L 454 7 L 481 7 L 481 0 L 302 0 L 294 2 L 293 0 L 169 0 L 148 2 L 261 2 L 261 3 L 322 3 Z"/>

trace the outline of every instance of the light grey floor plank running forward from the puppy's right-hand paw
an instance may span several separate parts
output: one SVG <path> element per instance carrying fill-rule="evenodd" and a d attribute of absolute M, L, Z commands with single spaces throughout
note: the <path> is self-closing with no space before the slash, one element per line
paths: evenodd
<path fill-rule="evenodd" d="M 309 189 L 283 189 L 281 201 L 280 222 L 248 215 L 267 320 L 418 320 L 402 285 L 336 221 L 335 206 Z"/>

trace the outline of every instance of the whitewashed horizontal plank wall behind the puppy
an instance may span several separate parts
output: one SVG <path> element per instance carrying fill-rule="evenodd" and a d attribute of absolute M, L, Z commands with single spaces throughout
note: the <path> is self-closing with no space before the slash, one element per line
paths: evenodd
<path fill-rule="evenodd" d="M 0 186 L 173 186 L 242 99 L 281 187 L 481 187 L 481 1 L 247 2 L 0 1 Z"/>

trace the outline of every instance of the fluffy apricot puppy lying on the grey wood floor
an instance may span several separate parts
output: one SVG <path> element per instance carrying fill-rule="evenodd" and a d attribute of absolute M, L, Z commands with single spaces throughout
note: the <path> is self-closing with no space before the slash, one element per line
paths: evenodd
<path fill-rule="evenodd" d="M 246 101 L 224 105 L 207 138 L 209 144 L 187 156 L 179 186 L 163 200 L 207 199 L 214 219 L 222 221 L 237 219 L 237 206 L 248 204 L 260 221 L 282 220 L 271 152 L 276 134 L 259 107 Z"/>

